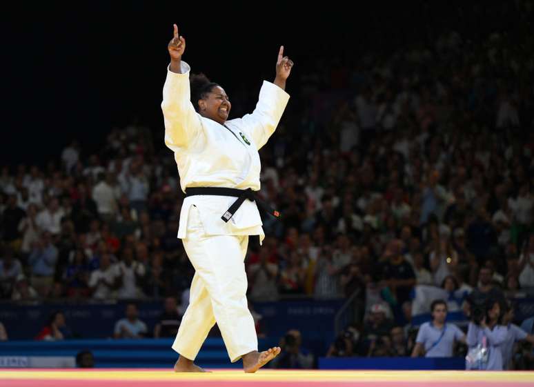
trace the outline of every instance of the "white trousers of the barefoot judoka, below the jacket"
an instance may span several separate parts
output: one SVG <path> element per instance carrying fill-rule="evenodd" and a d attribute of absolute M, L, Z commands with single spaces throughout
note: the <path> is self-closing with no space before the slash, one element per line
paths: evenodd
<path fill-rule="evenodd" d="M 197 207 L 190 206 L 187 235 L 182 241 L 195 276 L 172 349 L 194 360 L 217 322 L 230 361 L 257 350 L 254 320 L 246 299 L 248 235 L 205 235 Z"/>

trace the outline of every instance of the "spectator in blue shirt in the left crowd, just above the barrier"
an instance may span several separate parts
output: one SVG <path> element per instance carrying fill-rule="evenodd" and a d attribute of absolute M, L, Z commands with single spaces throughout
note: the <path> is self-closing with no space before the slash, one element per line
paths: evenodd
<path fill-rule="evenodd" d="M 28 257 L 28 264 L 32 269 L 32 286 L 42 297 L 47 297 L 52 289 L 57 255 L 58 251 L 52 244 L 50 232 L 43 232 Z"/>

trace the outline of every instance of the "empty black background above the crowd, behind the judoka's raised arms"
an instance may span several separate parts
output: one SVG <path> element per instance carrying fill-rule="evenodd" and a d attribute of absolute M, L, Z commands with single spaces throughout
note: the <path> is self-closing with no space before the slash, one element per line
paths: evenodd
<path fill-rule="evenodd" d="M 495 17 L 513 2 L 474 1 L 468 12 L 462 3 L 21 3 L 2 22 L 0 162 L 55 159 L 72 139 L 87 155 L 113 126 L 136 120 L 150 127 L 156 142 L 161 132 L 162 140 L 159 103 L 172 23 L 186 37 L 184 60 L 193 72 L 221 83 L 232 99 L 235 90 L 259 90 L 262 79 L 273 79 L 281 44 L 296 63 L 291 93 L 299 74 L 319 66 L 318 59 L 320 66 L 353 63 L 366 50 L 432 41 L 440 30 L 475 40 L 489 31 L 513 32 L 514 20 Z M 250 106 L 237 102 L 241 110 Z M 288 106 L 298 108 L 298 101 Z"/>

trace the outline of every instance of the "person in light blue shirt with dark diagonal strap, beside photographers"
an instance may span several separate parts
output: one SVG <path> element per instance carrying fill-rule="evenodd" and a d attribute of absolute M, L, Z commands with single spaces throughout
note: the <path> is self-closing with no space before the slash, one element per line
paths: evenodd
<path fill-rule="evenodd" d="M 447 304 L 442 299 L 431 305 L 432 321 L 422 324 L 415 339 L 412 357 L 452 357 L 455 341 L 465 343 L 466 335 L 455 324 L 446 323 Z"/>

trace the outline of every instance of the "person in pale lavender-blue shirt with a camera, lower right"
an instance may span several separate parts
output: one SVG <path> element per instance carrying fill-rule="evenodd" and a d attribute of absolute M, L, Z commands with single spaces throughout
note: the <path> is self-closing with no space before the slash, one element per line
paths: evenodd
<path fill-rule="evenodd" d="M 471 306 L 471 322 L 467 331 L 466 369 L 502 370 L 502 345 L 508 328 L 502 325 L 499 301 L 489 300 L 484 313 L 479 304 Z"/>

